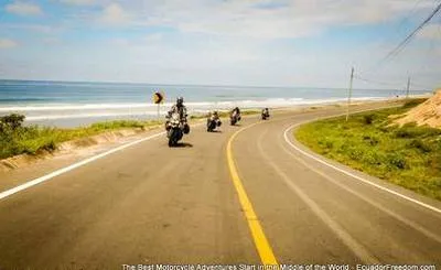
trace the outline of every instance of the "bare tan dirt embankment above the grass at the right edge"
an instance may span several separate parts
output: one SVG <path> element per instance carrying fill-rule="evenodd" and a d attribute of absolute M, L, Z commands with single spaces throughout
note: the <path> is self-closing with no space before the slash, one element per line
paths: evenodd
<path fill-rule="evenodd" d="M 424 102 L 415 107 L 395 120 L 395 123 L 399 126 L 416 122 L 417 126 L 429 126 L 432 128 L 441 128 L 441 89 L 438 89 L 435 94 Z"/>

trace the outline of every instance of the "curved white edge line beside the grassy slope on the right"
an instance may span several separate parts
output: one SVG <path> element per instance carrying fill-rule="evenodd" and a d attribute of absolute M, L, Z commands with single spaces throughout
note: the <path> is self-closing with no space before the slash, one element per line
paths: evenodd
<path fill-rule="evenodd" d="M 358 111 L 358 112 L 362 112 L 362 111 Z M 338 117 L 338 116 L 341 116 L 341 115 L 332 116 L 332 117 L 326 117 L 326 118 L 333 118 L 333 117 Z M 320 118 L 319 118 L 319 119 L 320 119 Z M 377 187 L 377 188 L 379 188 L 379 190 L 381 190 L 381 191 L 388 192 L 388 193 L 394 194 L 394 195 L 396 195 L 396 196 L 398 196 L 398 197 L 401 197 L 401 198 L 404 198 L 404 199 L 407 199 L 407 201 L 409 201 L 409 202 L 412 202 L 412 203 L 415 203 L 415 204 L 418 204 L 418 205 L 420 205 L 420 206 L 422 206 L 422 207 L 424 207 L 424 208 L 428 208 L 428 209 L 431 209 L 431 210 L 433 210 L 433 212 L 437 212 L 437 213 L 441 214 L 441 209 L 439 209 L 439 208 L 437 208 L 437 207 L 434 207 L 434 206 L 431 206 L 431 205 L 429 205 L 429 204 L 424 204 L 424 203 L 422 203 L 422 202 L 420 202 L 420 201 L 418 201 L 418 199 L 408 197 L 408 196 L 406 196 L 406 195 L 402 195 L 401 193 L 398 193 L 398 192 L 396 192 L 396 191 L 389 190 L 389 188 L 387 188 L 387 187 L 385 187 L 385 186 L 381 186 L 381 185 L 378 185 L 378 184 L 376 184 L 376 183 L 374 183 L 374 182 L 370 182 L 370 181 L 368 181 L 368 180 L 365 180 L 365 179 L 363 179 L 363 177 L 361 177 L 361 176 L 358 176 L 358 175 L 355 175 L 355 174 L 353 174 L 353 173 L 351 173 L 351 172 L 347 172 L 347 171 L 345 171 L 345 170 L 343 170 L 343 169 L 340 169 L 340 168 L 337 168 L 337 166 L 334 166 L 333 164 L 330 164 L 330 163 L 327 163 L 326 161 L 323 161 L 323 160 L 316 158 L 315 155 L 310 154 L 310 153 L 308 153 L 308 152 L 301 150 L 300 148 L 295 147 L 295 145 L 289 140 L 289 138 L 288 138 L 288 131 L 291 130 L 291 129 L 293 129 L 293 128 L 295 128 L 295 127 L 298 127 L 298 126 L 300 126 L 300 125 L 303 125 L 303 123 L 310 122 L 310 121 L 314 121 L 314 120 L 318 120 L 318 119 L 313 119 L 313 120 L 309 120 L 309 121 L 295 123 L 295 125 L 290 126 L 288 129 L 286 129 L 286 130 L 284 130 L 284 133 L 283 133 L 283 137 L 284 137 L 284 140 L 287 141 L 287 143 L 288 143 L 291 148 L 293 148 L 293 149 L 295 149 L 297 151 L 299 151 L 300 153 L 302 153 L 303 155 L 306 155 L 308 158 L 313 159 L 313 160 L 315 160 L 315 161 L 318 161 L 318 162 L 320 162 L 320 163 L 322 163 L 322 164 L 324 164 L 324 165 L 326 165 L 326 166 L 330 166 L 330 168 L 332 168 L 332 169 L 334 169 L 334 170 L 336 170 L 336 171 L 338 171 L 338 172 L 341 172 L 341 173 L 344 173 L 344 174 L 346 174 L 346 175 L 348 175 L 348 176 L 351 176 L 351 177 L 354 177 L 354 179 L 356 179 L 356 180 L 362 181 L 363 183 L 369 184 L 369 185 L 375 186 L 375 187 Z"/>

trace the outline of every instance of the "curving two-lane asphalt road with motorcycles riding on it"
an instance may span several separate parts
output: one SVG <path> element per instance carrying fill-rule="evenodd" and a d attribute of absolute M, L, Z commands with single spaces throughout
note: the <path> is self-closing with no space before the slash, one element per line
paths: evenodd
<path fill-rule="evenodd" d="M 367 107 L 373 105 L 358 109 Z M 291 145 L 305 150 L 289 127 L 341 112 L 247 118 L 237 127 L 224 122 L 215 133 L 194 127 L 179 148 L 154 138 L 4 197 L 0 269 L 261 262 L 439 268 L 441 213 L 427 207 L 440 209 L 439 202 L 331 162 L 385 187 L 378 188 Z"/>

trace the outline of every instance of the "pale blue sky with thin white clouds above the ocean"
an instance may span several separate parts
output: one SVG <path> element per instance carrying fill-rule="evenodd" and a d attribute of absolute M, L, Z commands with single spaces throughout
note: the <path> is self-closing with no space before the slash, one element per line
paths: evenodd
<path fill-rule="evenodd" d="M 0 79 L 441 87 L 439 0 L 0 0 Z"/>

